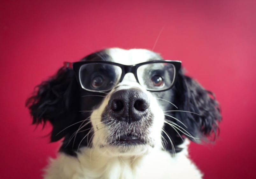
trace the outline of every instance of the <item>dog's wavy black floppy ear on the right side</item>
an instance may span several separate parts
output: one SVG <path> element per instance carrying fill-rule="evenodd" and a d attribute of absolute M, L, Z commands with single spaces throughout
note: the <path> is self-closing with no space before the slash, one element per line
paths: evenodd
<path fill-rule="evenodd" d="M 180 72 L 175 84 L 174 98 L 174 104 L 177 105 L 178 110 L 187 111 L 177 111 L 175 116 L 188 127 L 185 129 L 189 134 L 199 139 L 195 140 L 186 136 L 196 142 L 200 142 L 202 139 L 215 140 L 219 131 L 218 122 L 221 121 L 221 115 L 214 94 Z"/>

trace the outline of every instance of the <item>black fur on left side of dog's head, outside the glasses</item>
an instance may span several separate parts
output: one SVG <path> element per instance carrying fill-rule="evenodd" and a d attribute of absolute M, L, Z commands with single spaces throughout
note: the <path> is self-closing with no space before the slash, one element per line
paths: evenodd
<path fill-rule="evenodd" d="M 82 60 L 102 60 L 102 58 L 107 60 L 109 58 L 107 54 L 104 55 L 104 51 L 96 53 L 88 55 Z M 91 111 L 103 99 L 102 97 L 88 96 L 92 94 L 95 93 L 84 91 L 78 85 L 73 70 L 60 68 L 53 77 L 43 81 L 35 88 L 34 94 L 26 101 L 26 107 L 29 108 L 33 117 L 32 124 L 45 125 L 49 121 L 53 126 L 51 142 L 64 138 L 60 151 L 75 156 L 80 141 L 82 141 L 80 148 L 89 146 L 89 140 L 82 139 L 92 127 L 88 123 L 83 127 L 83 132 L 77 133 L 74 140 L 72 134 L 82 124 L 79 121 L 87 119 L 91 114 L 81 111 Z M 90 139 L 90 137 L 89 135 L 88 138 Z"/>

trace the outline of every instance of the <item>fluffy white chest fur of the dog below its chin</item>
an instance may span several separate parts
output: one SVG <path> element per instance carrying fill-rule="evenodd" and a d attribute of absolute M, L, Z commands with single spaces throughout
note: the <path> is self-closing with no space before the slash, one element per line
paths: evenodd
<path fill-rule="evenodd" d="M 158 151 L 140 157 L 106 157 L 84 151 L 77 158 L 60 154 L 46 169 L 46 179 L 201 178 L 184 155 Z"/>

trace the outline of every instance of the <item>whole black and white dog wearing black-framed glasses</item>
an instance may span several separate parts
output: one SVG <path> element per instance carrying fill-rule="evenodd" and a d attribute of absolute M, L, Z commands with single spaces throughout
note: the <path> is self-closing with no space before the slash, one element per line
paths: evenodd
<path fill-rule="evenodd" d="M 202 178 L 190 141 L 218 132 L 213 94 L 144 49 L 105 49 L 65 63 L 27 100 L 33 124 L 63 139 L 46 179 Z"/>

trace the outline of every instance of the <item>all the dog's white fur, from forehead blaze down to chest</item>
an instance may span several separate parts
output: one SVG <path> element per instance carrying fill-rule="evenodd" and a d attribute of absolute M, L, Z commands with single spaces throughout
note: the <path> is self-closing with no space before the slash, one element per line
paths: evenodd
<path fill-rule="evenodd" d="M 114 62 L 125 65 L 138 64 L 148 59 L 160 59 L 158 54 L 144 49 L 112 48 L 108 49 L 107 53 Z M 124 148 L 113 147 L 106 143 L 109 131 L 101 122 L 101 114 L 108 105 L 113 92 L 111 91 L 90 116 L 94 129 L 93 147 L 80 148 L 77 157 L 59 153 L 46 169 L 45 179 L 202 178 L 200 171 L 188 158 L 188 141 L 183 143 L 184 149 L 176 155 L 162 150 L 161 128 L 164 124 L 164 113 L 157 100 L 136 82 L 132 73 L 125 75 L 123 81 L 118 84 L 117 90 L 134 87 L 139 88 L 149 98 L 154 119 L 148 137 L 153 141 L 154 147 L 138 145 L 126 148 L 123 152 Z"/>

